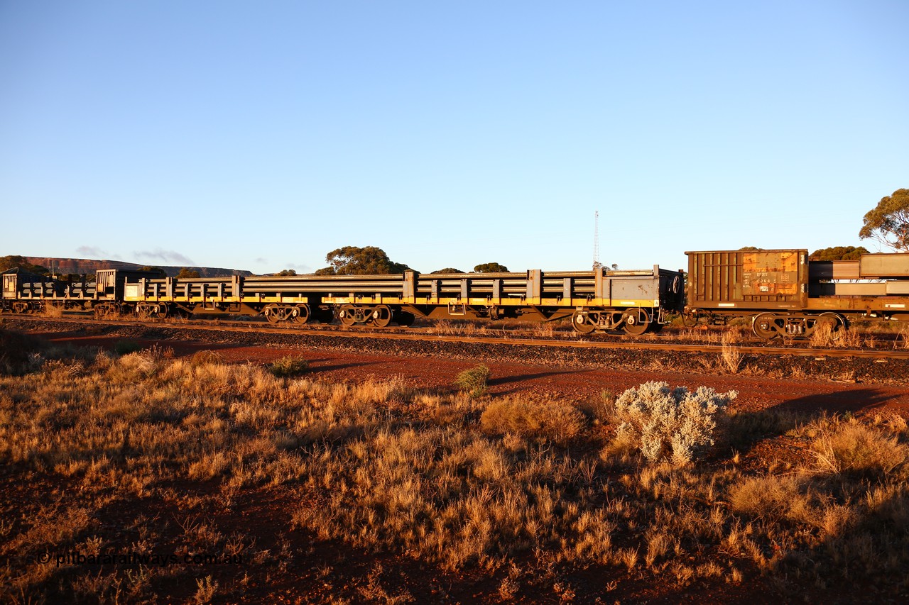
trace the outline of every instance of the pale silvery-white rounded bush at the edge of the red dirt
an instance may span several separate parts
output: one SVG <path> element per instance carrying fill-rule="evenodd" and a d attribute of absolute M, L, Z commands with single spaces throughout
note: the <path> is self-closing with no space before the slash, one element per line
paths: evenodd
<path fill-rule="evenodd" d="M 717 393 L 710 387 L 689 392 L 666 382 L 644 382 L 615 401 L 620 422 L 616 438 L 641 450 L 651 462 L 686 464 L 714 444 L 716 416 L 738 393 Z"/>

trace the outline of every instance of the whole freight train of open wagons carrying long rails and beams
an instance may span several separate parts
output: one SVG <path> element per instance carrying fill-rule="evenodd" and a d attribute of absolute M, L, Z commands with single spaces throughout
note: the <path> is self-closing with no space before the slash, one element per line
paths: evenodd
<path fill-rule="evenodd" d="M 570 319 L 581 334 L 658 332 L 676 316 L 725 323 L 750 317 L 764 339 L 836 331 L 850 321 L 909 321 L 909 253 L 811 261 L 808 251 L 688 252 L 688 271 L 652 269 L 391 275 L 160 277 L 105 269 L 95 282 L 3 274 L 0 310 L 49 307 L 104 316 L 227 313 L 268 322 L 410 325 L 415 318 Z"/>

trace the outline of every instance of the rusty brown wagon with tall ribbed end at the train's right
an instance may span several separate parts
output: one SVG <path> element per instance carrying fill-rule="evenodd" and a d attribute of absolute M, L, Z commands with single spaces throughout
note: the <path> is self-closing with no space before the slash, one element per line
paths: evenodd
<path fill-rule="evenodd" d="M 750 317 L 764 339 L 807 337 L 826 324 L 909 322 L 909 253 L 863 254 L 857 261 L 812 261 L 808 251 L 686 252 L 689 322 Z"/>

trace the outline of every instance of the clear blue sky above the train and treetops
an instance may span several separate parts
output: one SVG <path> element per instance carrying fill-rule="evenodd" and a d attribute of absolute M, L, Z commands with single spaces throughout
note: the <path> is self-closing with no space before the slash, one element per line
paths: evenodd
<path fill-rule="evenodd" d="M 0 255 L 429 272 L 858 245 L 909 2 L 0 0 Z M 864 245 L 874 250 L 874 243 Z"/>

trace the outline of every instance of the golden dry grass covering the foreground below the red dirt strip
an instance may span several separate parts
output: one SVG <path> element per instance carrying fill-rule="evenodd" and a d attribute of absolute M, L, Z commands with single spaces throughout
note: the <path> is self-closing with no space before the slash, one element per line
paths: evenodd
<path fill-rule="evenodd" d="M 894 598 L 909 589 L 909 435 L 896 416 L 721 414 L 708 457 L 669 465 L 622 451 L 608 393 L 582 412 L 554 400 L 439 396 L 400 379 L 278 377 L 209 354 L 38 361 L 0 377 L 0 464 L 23 486 L 62 487 L 0 511 L 3 600 L 242 600 L 249 576 L 260 586 L 295 581 L 300 569 L 288 561 L 322 540 L 469 570 L 504 600 L 580 597 L 591 568 L 607 579 L 596 589 L 604 598 L 625 578 L 667 590 L 760 576 L 837 596 L 855 583 Z M 771 448 L 743 463 L 755 444 L 781 439 L 802 458 Z M 267 535 L 212 516 L 261 490 L 293 494 Z M 242 553 L 251 563 L 245 574 L 138 573 L 39 560 L 130 548 Z M 338 590 L 320 593 L 326 600 L 416 599 L 380 566 L 341 580 L 341 563 L 320 562 L 314 586 Z M 157 598 L 175 585 L 182 597 Z"/>

